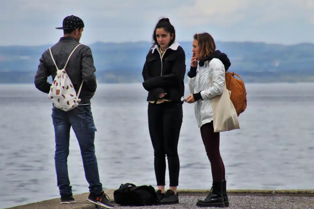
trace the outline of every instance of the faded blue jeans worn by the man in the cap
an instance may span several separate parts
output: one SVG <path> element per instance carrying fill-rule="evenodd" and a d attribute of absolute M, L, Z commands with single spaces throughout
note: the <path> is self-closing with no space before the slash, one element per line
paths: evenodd
<path fill-rule="evenodd" d="M 89 192 L 93 192 L 96 195 L 100 194 L 103 188 L 99 180 L 95 155 L 94 139 L 96 127 L 90 105 L 78 106 L 68 112 L 59 110 L 53 105 L 51 117 L 55 129 L 55 166 L 60 195 L 72 193 L 67 163 L 71 126 L 81 150 L 85 178 L 89 183 Z"/>

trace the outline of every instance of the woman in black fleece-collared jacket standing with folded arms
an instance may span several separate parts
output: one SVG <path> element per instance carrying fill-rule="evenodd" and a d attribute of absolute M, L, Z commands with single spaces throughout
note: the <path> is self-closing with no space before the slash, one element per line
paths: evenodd
<path fill-rule="evenodd" d="M 178 142 L 182 124 L 185 52 L 175 41 L 176 31 L 168 18 L 160 19 L 153 34 L 153 46 L 143 67 L 143 87 L 148 91 L 148 126 L 154 148 L 154 169 L 161 204 L 178 203 L 176 195 L 180 162 Z M 166 160 L 170 188 L 165 193 Z"/>

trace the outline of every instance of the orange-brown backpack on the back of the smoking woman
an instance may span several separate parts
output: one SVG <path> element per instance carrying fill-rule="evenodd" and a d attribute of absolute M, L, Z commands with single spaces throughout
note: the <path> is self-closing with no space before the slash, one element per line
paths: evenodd
<path fill-rule="evenodd" d="M 236 79 L 234 76 L 239 77 L 241 80 Z M 226 86 L 231 91 L 230 99 L 239 116 L 246 109 L 246 89 L 242 78 L 234 72 L 226 72 L 225 74 Z"/>

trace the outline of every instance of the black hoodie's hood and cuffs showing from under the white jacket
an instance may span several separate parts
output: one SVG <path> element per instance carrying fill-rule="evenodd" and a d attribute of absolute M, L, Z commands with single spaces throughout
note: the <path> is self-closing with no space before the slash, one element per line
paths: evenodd
<path fill-rule="evenodd" d="M 221 53 L 219 50 L 216 50 L 214 51 L 212 54 L 210 54 L 208 57 L 205 57 L 204 59 L 200 60 L 198 62 L 198 65 L 199 66 L 204 66 L 204 63 L 206 61 L 211 61 L 212 59 L 214 58 L 217 58 L 219 59 L 225 66 L 225 71 L 227 71 L 231 65 L 231 62 L 228 58 L 228 56 L 225 54 L 225 53 Z M 194 78 L 196 76 L 196 70 L 197 70 L 197 67 L 190 67 L 190 71 L 187 72 L 187 76 L 189 78 Z M 194 100 L 197 101 L 199 99 L 202 99 L 202 96 L 201 96 L 201 93 L 198 92 L 198 93 L 195 93 L 193 94 L 193 97 L 194 97 Z"/>

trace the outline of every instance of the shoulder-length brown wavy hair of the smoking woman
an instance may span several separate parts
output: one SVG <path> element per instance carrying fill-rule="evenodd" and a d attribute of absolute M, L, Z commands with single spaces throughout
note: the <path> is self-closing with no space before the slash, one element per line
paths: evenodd
<path fill-rule="evenodd" d="M 198 33 L 193 38 L 198 41 L 199 60 L 208 57 L 216 50 L 215 40 L 209 33 Z"/>

